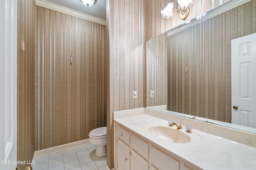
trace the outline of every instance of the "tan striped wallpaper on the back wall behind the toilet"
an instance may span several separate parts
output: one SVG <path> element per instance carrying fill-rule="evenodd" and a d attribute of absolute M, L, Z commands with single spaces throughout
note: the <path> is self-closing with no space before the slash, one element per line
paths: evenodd
<path fill-rule="evenodd" d="M 106 126 L 106 26 L 37 6 L 36 150 Z M 71 63 L 72 60 L 72 63 Z"/>

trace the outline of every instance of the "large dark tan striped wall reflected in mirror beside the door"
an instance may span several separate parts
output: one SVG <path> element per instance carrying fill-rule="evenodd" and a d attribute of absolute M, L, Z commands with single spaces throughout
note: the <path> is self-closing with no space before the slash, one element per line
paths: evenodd
<path fill-rule="evenodd" d="M 256 33 L 252 6 L 255 0 L 167 38 L 168 110 L 231 121 L 230 42 Z"/>

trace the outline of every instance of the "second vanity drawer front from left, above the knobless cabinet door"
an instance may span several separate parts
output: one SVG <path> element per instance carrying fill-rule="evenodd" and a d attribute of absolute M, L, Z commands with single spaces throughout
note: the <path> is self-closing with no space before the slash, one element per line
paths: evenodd
<path fill-rule="evenodd" d="M 148 159 L 148 143 L 133 134 L 131 135 L 131 148 L 144 158 Z"/>

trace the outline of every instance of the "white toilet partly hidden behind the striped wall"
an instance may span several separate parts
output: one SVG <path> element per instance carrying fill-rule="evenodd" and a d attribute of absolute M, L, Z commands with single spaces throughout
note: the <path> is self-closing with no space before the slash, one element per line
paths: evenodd
<path fill-rule="evenodd" d="M 107 155 L 107 127 L 98 127 L 90 131 L 89 141 L 96 145 L 96 156 Z"/>

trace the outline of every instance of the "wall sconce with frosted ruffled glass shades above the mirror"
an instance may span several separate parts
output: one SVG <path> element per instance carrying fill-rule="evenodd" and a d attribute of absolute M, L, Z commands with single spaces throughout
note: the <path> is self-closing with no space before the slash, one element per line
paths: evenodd
<path fill-rule="evenodd" d="M 176 10 L 179 13 L 180 19 L 186 20 L 188 17 L 188 14 L 190 12 L 190 6 L 192 5 L 193 0 L 177 0 L 177 7 Z M 167 4 L 167 6 L 164 8 L 164 10 L 161 10 L 161 15 L 163 18 L 170 19 L 174 14 L 172 14 L 173 11 L 173 2 L 170 2 Z M 178 8 L 180 10 L 178 11 Z"/>

